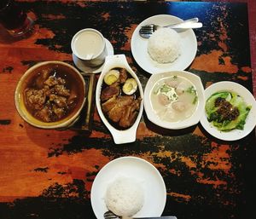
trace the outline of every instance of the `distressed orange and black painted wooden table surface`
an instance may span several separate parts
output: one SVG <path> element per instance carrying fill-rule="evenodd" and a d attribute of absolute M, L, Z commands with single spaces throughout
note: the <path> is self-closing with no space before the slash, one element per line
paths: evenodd
<path fill-rule="evenodd" d="M 148 160 L 166 183 L 163 215 L 178 219 L 253 218 L 255 203 L 255 132 L 240 141 L 218 141 L 195 125 L 162 130 L 145 113 L 137 141 L 116 146 L 98 113 L 91 133 L 40 130 L 15 110 L 15 86 L 39 61 L 73 64 L 70 42 L 75 32 L 96 28 L 125 54 L 143 86 L 150 75 L 131 55 L 131 35 L 154 14 L 183 19 L 197 16 L 198 51 L 187 69 L 204 87 L 229 80 L 252 91 L 247 3 L 109 3 L 20 1 L 35 20 L 31 37 L 0 38 L 0 218 L 95 218 L 90 188 L 96 174 L 114 158 Z M 152 200 L 154 201 L 154 200 Z M 158 205 L 155 203 L 155 205 Z"/>

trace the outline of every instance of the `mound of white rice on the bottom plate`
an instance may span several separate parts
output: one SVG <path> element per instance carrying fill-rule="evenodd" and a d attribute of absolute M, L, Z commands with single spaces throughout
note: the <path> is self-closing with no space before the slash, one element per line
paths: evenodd
<path fill-rule="evenodd" d="M 108 186 L 105 203 L 117 216 L 134 216 L 143 207 L 143 188 L 132 178 L 119 177 Z"/>

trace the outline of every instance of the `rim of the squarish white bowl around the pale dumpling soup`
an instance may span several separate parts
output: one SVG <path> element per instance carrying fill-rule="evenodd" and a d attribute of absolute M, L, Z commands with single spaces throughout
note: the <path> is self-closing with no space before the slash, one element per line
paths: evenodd
<path fill-rule="evenodd" d="M 179 76 L 179 77 L 188 79 L 192 84 L 194 84 L 195 89 L 197 91 L 197 95 L 198 95 L 198 106 L 195 109 L 195 112 L 192 114 L 191 117 L 178 122 L 168 122 L 160 119 L 157 116 L 157 114 L 154 112 L 152 103 L 150 101 L 150 95 L 152 90 L 154 89 L 154 84 L 156 84 L 162 78 L 169 78 L 172 76 Z M 198 124 L 201 118 L 201 115 L 203 113 L 204 107 L 205 107 L 204 88 L 201 83 L 201 78 L 199 78 L 195 74 L 186 72 L 186 71 L 171 71 L 171 72 L 162 72 L 162 73 L 154 74 L 148 79 L 148 83 L 146 84 L 146 88 L 144 91 L 144 108 L 147 113 L 148 119 L 152 123 L 162 128 L 170 129 L 170 130 L 185 129 L 185 128 L 188 128 L 189 126 Z"/>

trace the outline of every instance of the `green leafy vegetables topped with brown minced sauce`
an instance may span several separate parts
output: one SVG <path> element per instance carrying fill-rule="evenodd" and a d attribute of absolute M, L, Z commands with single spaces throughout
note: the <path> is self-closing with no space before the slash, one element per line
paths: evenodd
<path fill-rule="evenodd" d="M 207 99 L 207 119 L 221 131 L 243 130 L 251 107 L 235 92 L 217 92 Z"/>

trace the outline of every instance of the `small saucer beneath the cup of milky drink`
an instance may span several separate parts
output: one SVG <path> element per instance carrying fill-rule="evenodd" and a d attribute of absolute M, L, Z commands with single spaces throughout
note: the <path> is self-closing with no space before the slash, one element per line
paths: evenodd
<path fill-rule="evenodd" d="M 108 41 L 108 39 L 104 38 L 106 41 L 106 47 L 107 47 L 107 52 L 108 55 L 113 55 L 113 46 L 112 44 Z M 81 61 L 76 55 L 72 54 L 73 56 L 73 63 L 75 66 L 77 66 L 82 72 L 84 73 L 99 73 L 102 72 L 102 68 L 104 66 L 104 63 L 101 66 L 96 66 L 96 67 L 91 67 L 91 66 L 86 66 L 84 65 L 84 62 Z"/>

